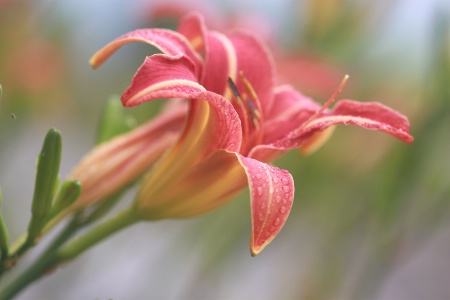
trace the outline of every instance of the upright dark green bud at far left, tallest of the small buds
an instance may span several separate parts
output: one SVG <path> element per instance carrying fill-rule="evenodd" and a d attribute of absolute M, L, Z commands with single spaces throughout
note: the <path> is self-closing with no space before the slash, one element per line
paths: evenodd
<path fill-rule="evenodd" d="M 45 226 L 58 183 L 59 164 L 61 161 L 62 138 L 59 131 L 50 129 L 45 137 L 37 161 L 36 180 L 31 220 L 28 225 L 27 243 L 34 243 Z"/>

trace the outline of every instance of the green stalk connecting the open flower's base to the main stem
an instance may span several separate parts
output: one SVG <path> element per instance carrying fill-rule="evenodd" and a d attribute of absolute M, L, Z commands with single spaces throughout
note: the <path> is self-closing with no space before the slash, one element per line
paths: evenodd
<path fill-rule="evenodd" d="M 138 221 L 140 221 L 140 218 L 132 207 L 119 212 L 117 215 L 98 225 L 85 235 L 77 238 L 67 246 L 62 247 L 58 251 L 59 262 L 74 259 L 91 246 L 109 237 L 111 234 L 116 233 L 131 224 L 137 223 Z"/>

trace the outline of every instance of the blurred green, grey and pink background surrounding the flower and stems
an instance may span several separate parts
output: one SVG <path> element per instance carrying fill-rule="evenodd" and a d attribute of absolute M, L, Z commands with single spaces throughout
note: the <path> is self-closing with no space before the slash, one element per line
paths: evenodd
<path fill-rule="evenodd" d="M 319 102 L 349 74 L 340 98 L 399 110 L 415 142 L 341 126 L 311 156 L 277 161 L 293 174 L 296 199 L 255 258 L 244 191 L 204 216 L 129 228 L 18 299 L 448 299 L 446 0 L 0 0 L 0 185 L 11 239 L 29 220 L 47 130 L 62 132 L 64 177 L 94 145 L 106 100 L 154 50 L 126 46 L 96 71 L 90 56 L 133 29 L 174 28 L 190 10 L 212 28 L 262 35 L 280 81 Z M 127 113 L 143 121 L 156 107 Z"/>

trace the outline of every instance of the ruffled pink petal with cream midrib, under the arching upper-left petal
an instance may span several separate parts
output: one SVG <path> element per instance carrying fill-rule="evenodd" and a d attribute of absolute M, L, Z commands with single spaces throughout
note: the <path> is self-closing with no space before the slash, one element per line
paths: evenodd
<path fill-rule="evenodd" d="M 197 83 L 192 62 L 184 56 L 155 54 L 145 59 L 122 95 L 124 106 L 158 98 L 173 98 L 172 92 L 192 94 L 205 89 Z"/>

